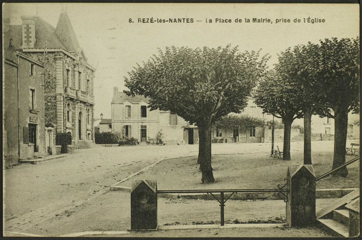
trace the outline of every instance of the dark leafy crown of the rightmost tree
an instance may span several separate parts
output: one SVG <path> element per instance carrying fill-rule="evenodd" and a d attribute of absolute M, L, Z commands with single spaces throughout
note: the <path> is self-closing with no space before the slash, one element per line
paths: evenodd
<path fill-rule="evenodd" d="M 307 82 L 322 106 L 320 115 L 334 117 L 331 109 L 347 108 L 359 113 L 359 37 L 308 42 L 305 66 L 299 74 L 308 76 Z"/>

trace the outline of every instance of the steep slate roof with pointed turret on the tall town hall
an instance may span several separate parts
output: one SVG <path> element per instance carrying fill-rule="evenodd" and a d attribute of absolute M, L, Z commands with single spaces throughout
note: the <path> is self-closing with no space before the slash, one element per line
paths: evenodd
<path fill-rule="evenodd" d="M 22 25 L 9 25 L 9 31 L 4 32 L 4 44 L 9 45 L 10 38 L 13 37 L 13 45 L 17 48 L 22 46 Z M 70 22 L 66 11 L 62 12 L 57 28 L 54 28 L 47 21 L 39 16 L 35 17 L 35 37 L 34 48 L 44 49 L 47 41 L 47 49 L 64 49 L 75 51 L 80 48 L 77 36 Z"/>

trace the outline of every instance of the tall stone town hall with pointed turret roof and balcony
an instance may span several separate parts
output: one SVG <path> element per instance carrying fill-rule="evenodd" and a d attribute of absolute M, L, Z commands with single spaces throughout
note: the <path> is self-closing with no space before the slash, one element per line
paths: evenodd
<path fill-rule="evenodd" d="M 94 73 L 80 47 L 66 9 L 54 28 L 39 16 L 22 16 L 22 25 L 4 30 L 5 41 L 45 66 L 45 124 L 70 132 L 76 148 L 93 144 Z"/>

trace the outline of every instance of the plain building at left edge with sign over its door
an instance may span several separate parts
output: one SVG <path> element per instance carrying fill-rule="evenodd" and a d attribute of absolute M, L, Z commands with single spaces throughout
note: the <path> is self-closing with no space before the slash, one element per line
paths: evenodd
<path fill-rule="evenodd" d="M 46 154 L 44 65 L 15 50 L 3 52 L 4 165 Z"/>

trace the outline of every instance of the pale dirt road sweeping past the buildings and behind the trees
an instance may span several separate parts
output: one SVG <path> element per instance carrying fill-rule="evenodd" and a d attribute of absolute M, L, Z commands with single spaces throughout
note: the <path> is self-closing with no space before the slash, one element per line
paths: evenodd
<path fill-rule="evenodd" d="M 276 143 L 282 146 L 282 143 Z M 292 142 L 291 149 L 301 149 Z M 333 150 L 332 141 L 313 147 Z M 270 143 L 217 143 L 212 154 L 270 152 Z M 109 191 L 109 186 L 160 160 L 198 154 L 198 145 L 97 146 L 64 158 L 4 170 L 4 227 L 23 231 Z"/>

